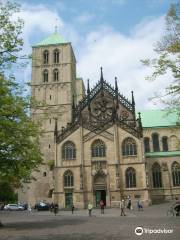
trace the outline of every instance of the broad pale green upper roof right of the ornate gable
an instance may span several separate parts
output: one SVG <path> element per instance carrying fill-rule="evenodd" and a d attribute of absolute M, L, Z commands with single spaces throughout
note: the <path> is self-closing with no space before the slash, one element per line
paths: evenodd
<path fill-rule="evenodd" d="M 143 128 L 170 127 L 177 125 L 178 117 L 175 112 L 165 110 L 147 110 L 141 112 Z"/>

